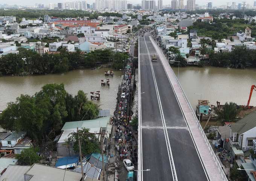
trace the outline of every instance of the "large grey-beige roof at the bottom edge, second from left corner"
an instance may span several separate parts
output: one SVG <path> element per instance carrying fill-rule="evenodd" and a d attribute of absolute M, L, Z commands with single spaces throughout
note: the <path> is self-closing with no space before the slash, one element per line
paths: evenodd
<path fill-rule="evenodd" d="M 24 181 L 81 181 L 81 173 L 34 163 L 24 173 Z"/>

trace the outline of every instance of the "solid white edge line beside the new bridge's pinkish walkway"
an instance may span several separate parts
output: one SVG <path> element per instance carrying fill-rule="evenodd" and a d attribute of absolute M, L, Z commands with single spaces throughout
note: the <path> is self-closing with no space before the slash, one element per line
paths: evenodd
<path fill-rule="evenodd" d="M 151 37 L 150 37 L 149 39 L 151 40 Z M 151 44 L 152 44 L 152 46 L 154 47 L 155 51 L 157 52 L 157 49 L 155 48 L 155 46 L 154 46 L 153 43 L 152 43 L 152 40 L 151 40 Z M 160 51 L 160 52 L 163 54 L 162 51 Z M 158 52 L 157 52 L 157 54 L 158 54 Z M 163 55 L 163 56 L 164 56 L 164 55 Z M 180 106 L 180 102 L 178 101 L 178 97 L 177 97 L 177 95 L 176 95 L 176 93 L 175 93 L 175 91 L 174 91 L 174 88 L 173 88 L 173 86 L 172 86 L 171 80 L 169 79 L 169 76 L 168 76 L 168 74 L 167 74 L 167 71 L 166 71 L 166 69 L 165 69 L 165 66 L 163 65 L 162 59 L 160 58 L 160 55 L 159 55 L 159 54 L 158 54 L 158 57 L 159 57 L 159 59 L 160 59 L 160 61 L 161 61 L 161 64 L 162 64 L 164 70 L 165 70 L 166 76 L 167 76 L 167 78 L 168 78 L 168 80 L 169 80 L 169 82 L 170 82 L 170 84 L 171 84 L 171 87 L 172 87 L 172 90 L 173 90 L 174 95 L 175 95 L 175 97 L 176 97 L 176 100 L 177 100 L 177 102 L 178 102 L 178 105 Z M 165 56 L 164 56 L 164 57 L 165 57 Z M 168 62 L 168 65 L 169 65 L 169 68 L 171 68 L 169 62 Z M 187 125 L 187 127 L 189 128 L 189 126 L 188 126 L 188 124 L 187 124 L 187 120 L 186 120 L 186 118 L 185 118 L 185 116 L 184 116 L 183 109 L 181 108 L 181 106 L 180 106 L 180 110 L 181 110 L 181 113 L 183 114 L 183 117 L 184 117 L 184 120 L 185 120 L 185 122 L 186 122 L 186 125 Z M 192 139 L 192 141 L 193 141 L 193 143 L 194 143 L 195 150 L 197 151 L 197 155 L 198 155 L 198 157 L 199 157 L 199 160 L 200 160 L 200 162 L 201 162 L 201 164 L 202 164 L 202 167 L 203 167 L 203 169 L 204 169 L 204 173 L 206 174 L 206 178 L 207 178 L 207 180 L 209 181 L 208 175 L 207 175 L 207 173 L 206 173 L 204 164 L 203 164 L 202 159 L 201 159 L 201 157 L 200 157 L 200 154 L 199 154 L 199 152 L 198 152 L 198 148 L 197 148 L 197 146 L 196 146 L 196 144 L 195 144 L 194 138 L 193 138 L 193 136 L 192 136 L 192 134 L 191 134 L 190 128 L 189 128 L 188 130 L 189 130 L 190 137 L 191 137 L 191 139 Z"/>

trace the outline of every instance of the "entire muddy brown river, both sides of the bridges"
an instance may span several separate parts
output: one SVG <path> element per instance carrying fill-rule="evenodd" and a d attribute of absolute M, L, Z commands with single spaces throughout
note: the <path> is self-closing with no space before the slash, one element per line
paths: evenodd
<path fill-rule="evenodd" d="M 178 67 L 172 68 L 178 76 Z M 78 90 L 83 90 L 89 99 L 90 91 L 101 91 L 101 100 L 95 102 L 101 105 L 101 109 L 110 109 L 110 113 L 113 114 L 122 71 L 115 71 L 113 77 L 108 77 L 110 87 L 101 87 L 101 79 L 106 79 L 105 70 L 83 69 L 63 74 L 0 77 L 0 110 L 4 110 L 6 103 L 15 101 L 20 94 L 33 95 L 45 84 L 64 83 L 67 92 L 75 95 Z M 209 100 L 213 105 L 216 105 L 217 100 L 221 104 L 231 101 L 238 105 L 246 105 L 251 85 L 256 84 L 256 69 L 180 67 L 179 79 L 194 108 L 200 99 L 200 95 L 195 93 L 201 93 L 202 99 Z M 250 105 L 256 106 L 256 91 L 253 92 Z"/>

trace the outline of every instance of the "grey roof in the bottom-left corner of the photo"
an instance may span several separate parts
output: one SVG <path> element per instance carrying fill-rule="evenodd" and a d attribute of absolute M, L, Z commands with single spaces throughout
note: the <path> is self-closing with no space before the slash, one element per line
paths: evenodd
<path fill-rule="evenodd" d="M 3 175 L 1 181 L 24 181 L 24 173 L 30 169 L 30 166 L 25 165 L 9 165 Z"/>

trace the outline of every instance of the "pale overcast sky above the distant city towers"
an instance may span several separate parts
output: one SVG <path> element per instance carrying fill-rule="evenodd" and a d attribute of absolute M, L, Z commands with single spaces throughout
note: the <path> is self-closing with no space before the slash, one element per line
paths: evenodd
<path fill-rule="evenodd" d="M 35 3 L 42 3 L 42 4 L 49 4 L 49 3 L 59 3 L 59 2 L 71 2 L 71 1 L 81 1 L 81 0 L 0 0 L 0 4 L 8 4 L 8 5 L 35 5 Z M 95 0 L 87 0 L 88 3 L 92 3 Z M 157 4 L 157 0 L 156 4 Z M 231 1 L 223 1 L 223 0 L 196 0 L 195 3 L 199 5 L 206 5 L 207 2 L 212 2 L 213 6 L 219 6 L 219 5 L 226 5 L 227 2 L 232 4 L 232 2 L 236 2 L 236 5 L 238 3 L 242 3 L 244 0 L 231 0 Z M 247 0 L 246 2 L 249 3 L 250 5 L 253 5 L 254 0 Z M 140 0 L 127 0 L 127 2 L 133 2 L 133 3 L 141 3 Z M 168 5 L 171 4 L 171 0 L 163 0 L 163 5 Z M 186 4 L 186 0 L 184 0 L 184 4 Z"/>

